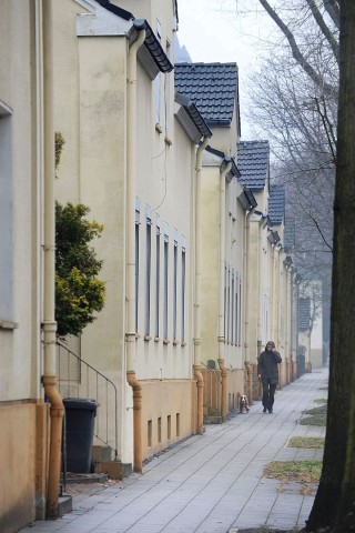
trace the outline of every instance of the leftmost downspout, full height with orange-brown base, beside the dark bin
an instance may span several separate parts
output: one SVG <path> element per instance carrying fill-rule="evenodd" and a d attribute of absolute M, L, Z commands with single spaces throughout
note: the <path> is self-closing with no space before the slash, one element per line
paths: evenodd
<path fill-rule="evenodd" d="M 64 406 L 57 389 L 55 354 L 55 207 L 54 207 L 54 128 L 53 128 L 53 16 L 52 2 L 42 1 L 43 14 L 43 94 L 44 94 L 44 303 L 43 345 L 44 370 L 42 383 L 50 406 L 50 446 L 48 470 L 47 517 L 58 516 L 61 466 L 61 440 Z"/>

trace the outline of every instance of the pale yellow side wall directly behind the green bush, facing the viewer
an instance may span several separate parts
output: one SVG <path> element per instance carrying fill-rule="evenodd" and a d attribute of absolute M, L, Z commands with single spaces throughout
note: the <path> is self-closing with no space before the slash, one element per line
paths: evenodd
<path fill-rule="evenodd" d="M 98 258 L 104 261 L 100 279 L 105 282 L 105 305 L 98 320 L 85 329 L 79 355 L 116 384 L 121 428 L 125 415 L 126 39 L 77 38 L 75 9 L 67 9 L 68 4 L 57 4 L 65 42 L 60 48 L 61 40 L 57 40 L 61 70 L 55 71 L 55 130 L 65 140 L 55 182 L 57 198 L 62 203 L 84 203 L 90 208 L 88 219 L 104 225 L 102 238 L 94 244 Z M 60 87 L 65 73 L 67 88 Z M 101 410 L 104 409 L 103 405 Z"/>

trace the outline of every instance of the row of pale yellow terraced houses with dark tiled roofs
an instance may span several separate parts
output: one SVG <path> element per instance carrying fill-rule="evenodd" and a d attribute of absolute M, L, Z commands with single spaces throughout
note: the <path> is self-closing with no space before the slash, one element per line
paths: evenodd
<path fill-rule="evenodd" d="M 203 439 L 241 394 L 260 398 L 267 340 L 280 386 L 296 379 L 302 280 L 268 142 L 241 140 L 237 66 L 174 60 L 176 0 L 2 0 L 0 30 L 0 530 L 12 532 L 59 513 L 63 398 L 97 399 L 93 463 L 122 477 Z M 67 344 L 55 200 L 104 224 L 105 305 Z"/>

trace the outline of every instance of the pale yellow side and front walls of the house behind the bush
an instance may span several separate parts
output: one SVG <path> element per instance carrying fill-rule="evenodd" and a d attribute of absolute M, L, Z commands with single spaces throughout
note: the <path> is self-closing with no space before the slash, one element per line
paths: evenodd
<path fill-rule="evenodd" d="M 138 2 L 139 3 L 139 2 Z M 139 6 L 135 17 L 148 17 Z M 172 41 L 172 6 L 160 10 L 162 46 Z M 120 3 L 120 7 L 125 7 Z M 106 283 L 104 310 L 89 325 L 81 342 L 81 355 L 110 378 L 119 396 L 119 456 L 132 462 L 132 390 L 125 379 L 125 180 L 126 131 L 135 131 L 135 197 L 140 204 L 140 263 L 139 263 L 139 318 L 135 345 L 135 372 L 139 380 L 162 378 L 185 379 L 191 388 L 192 333 L 191 302 L 193 261 L 193 220 L 195 147 L 186 138 L 173 118 L 173 74 L 170 92 L 166 76 L 160 74 L 161 128 L 155 129 L 155 83 L 138 63 L 136 123 L 126 117 L 128 109 L 128 40 L 124 36 L 75 37 L 73 26 L 75 7 L 69 10 L 58 4 L 63 24 L 65 44 L 59 48 L 58 108 L 55 129 L 65 139 L 57 181 L 57 198 L 62 202 L 81 201 L 90 207 L 89 218 L 104 224 L 104 231 L 95 243 L 98 257 L 104 260 L 100 278 Z M 133 11 L 132 6 L 126 7 Z M 155 9 L 155 8 L 154 8 Z M 152 11 L 153 12 L 153 11 Z M 155 24 L 154 24 L 155 26 Z M 154 27 L 152 24 L 154 30 Z M 171 47 L 171 52 L 173 51 Z M 62 77 L 68 77 L 68 86 Z M 69 91 L 68 88 L 71 90 Z M 164 110 L 170 109 L 169 131 L 165 129 Z M 169 142 L 166 142 L 169 138 Z M 62 179 L 63 177 L 63 179 Z M 72 184 L 71 184 L 72 183 Z M 151 225 L 151 326 L 145 335 L 145 255 L 146 207 L 152 215 Z M 155 340 L 155 271 L 156 271 L 156 217 L 160 220 L 160 335 Z M 163 244 L 164 224 L 169 225 L 169 332 L 163 342 Z M 172 334 L 172 280 L 174 235 L 178 235 L 178 305 L 176 339 Z M 186 249 L 185 339 L 181 338 L 181 271 L 182 247 Z M 174 342 L 175 341 L 175 342 Z M 168 388 L 170 390 L 170 388 Z M 174 394 L 172 394 L 174 398 Z M 145 402 L 143 394 L 143 403 Z M 128 409 L 126 409 L 128 408 Z M 99 410 L 103 410 L 101 405 Z M 155 416 L 156 418 L 156 416 Z M 191 420 L 189 421 L 192 431 Z M 185 431 L 185 430 L 184 430 Z M 112 429 L 110 430 L 112 434 Z"/>

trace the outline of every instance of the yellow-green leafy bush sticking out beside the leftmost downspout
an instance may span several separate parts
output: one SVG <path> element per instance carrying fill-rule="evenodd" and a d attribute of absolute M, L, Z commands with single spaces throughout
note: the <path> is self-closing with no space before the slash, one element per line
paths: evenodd
<path fill-rule="evenodd" d="M 84 217 L 81 203 L 55 203 L 55 320 L 58 335 L 79 335 L 104 304 L 104 282 L 97 279 L 103 261 L 89 247 L 103 225 Z"/>

